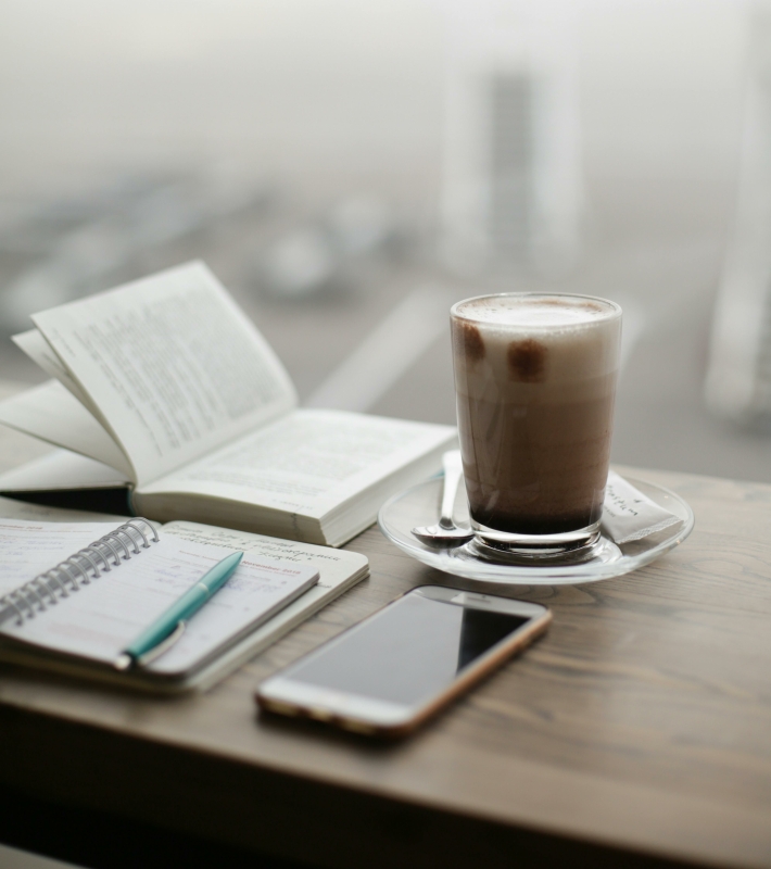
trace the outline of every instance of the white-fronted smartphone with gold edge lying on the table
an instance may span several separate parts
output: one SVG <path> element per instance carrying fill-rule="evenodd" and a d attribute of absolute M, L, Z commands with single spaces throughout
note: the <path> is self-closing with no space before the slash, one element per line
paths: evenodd
<path fill-rule="evenodd" d="M 442 585 L 396 599 L 263 682 L 261 708 L 397 736 L 542 634 L 541 604 Z"/>

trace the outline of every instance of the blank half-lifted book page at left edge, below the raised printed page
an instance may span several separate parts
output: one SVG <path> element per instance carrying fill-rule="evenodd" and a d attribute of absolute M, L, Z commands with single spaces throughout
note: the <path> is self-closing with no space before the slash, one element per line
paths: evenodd
<path fill-rule="evenodd" d="M 0 402 L 0 423 L 116 468 L 136 481 L 127 456 L 97 419 L 56 380 Z"/>

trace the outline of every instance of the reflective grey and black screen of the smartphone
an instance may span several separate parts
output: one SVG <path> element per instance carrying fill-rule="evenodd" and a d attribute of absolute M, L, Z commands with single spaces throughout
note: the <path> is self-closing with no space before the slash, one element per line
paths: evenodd
<path fill-rule="evenodd" d="M 413 706 L 442 691 L 528 620 L 409 594 L 283 676 Z"/>

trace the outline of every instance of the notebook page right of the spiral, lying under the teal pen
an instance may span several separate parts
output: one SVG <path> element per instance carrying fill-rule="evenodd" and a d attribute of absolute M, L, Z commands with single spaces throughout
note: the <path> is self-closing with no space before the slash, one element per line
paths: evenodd
<path fill-rule="evenodd" d="M 114 526 L 113 526 L 114 527 Z M 121 652 L 232 549 L 161 538 L 129 562 L 0 633 L 48 650 L 112 664 Z M 156 662 L 159 672 L 184 672 L 235 635 L 262 624 L 309 588 L 317 569 L 250 557 L 188 622 L 182 639 Z"/>

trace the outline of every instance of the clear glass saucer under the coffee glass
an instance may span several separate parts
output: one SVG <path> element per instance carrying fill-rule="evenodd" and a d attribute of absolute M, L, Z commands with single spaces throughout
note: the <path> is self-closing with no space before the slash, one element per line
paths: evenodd
<path fill-rule="evenodd" d="M 421 543 L 412 529 L 437 522 L 442 499 L 442 477 L 421 482 L 383 504 L 378 524 L 386 537 L 419 562 L 466 579 L 508 585 L 567 585 L 596 582 L 629 574 L 659 558 L 691 533 L 694 515 L 682 498 L 661 486 L 632 477 L 625 479 L 681 521 L 643 540 L 617 545 L 603 536 L 594 557 L 578 564 L 508 565 L 482 561 L 471 544 L 442 549 Z M 455 500 L 455 521 L 468 528 L 468 503 L 463 483 Z"/>

